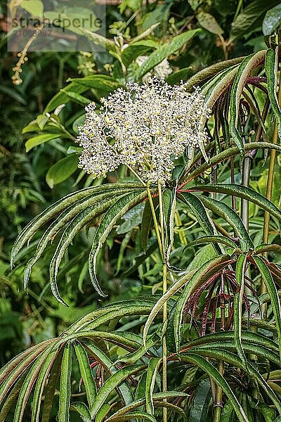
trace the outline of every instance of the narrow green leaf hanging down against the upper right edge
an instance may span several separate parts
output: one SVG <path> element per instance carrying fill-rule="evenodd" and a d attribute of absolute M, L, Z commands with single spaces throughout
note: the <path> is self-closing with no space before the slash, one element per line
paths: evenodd
<path fill-rule="evenodd" d="M 278 70 L 278 47 L 275 51 L 268 49 L 266 51 L 266 77 L 268 79 L 268 96 L 275 119 L 277 120 L 278 135 L 281 139 L 281 109 L 277 98 L 277 70 Z"/>

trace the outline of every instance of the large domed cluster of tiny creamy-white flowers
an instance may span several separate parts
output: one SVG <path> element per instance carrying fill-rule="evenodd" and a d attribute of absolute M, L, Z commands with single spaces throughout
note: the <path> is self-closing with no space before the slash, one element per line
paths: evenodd
<path fill-rule="evenodd" d="M 200 89 L 190 94 L 185 84 L 171 87 L 153 78 L 126 84 L 102 103 L 100 110 L 93 103 L 86 106 L 77 138 L 84 148 L 79 167 L 95 178 L 123 164 L 144 182 L 164 184 L 171 179 L 173 160 L 208 139 L 202 122 L 209 110 Z"/>

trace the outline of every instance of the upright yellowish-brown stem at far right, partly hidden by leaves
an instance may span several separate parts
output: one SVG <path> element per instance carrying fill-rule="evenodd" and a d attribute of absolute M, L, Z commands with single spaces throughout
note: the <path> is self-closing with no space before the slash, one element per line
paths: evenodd
<path fill-rule="evenodd" d="M 281 105 L 281 71 L 280 71 L 279 78 L 280 79 L 279 79 L 278 103 L 279 105 Z M 277 121 L 275 120 L 275 126 L 274 126 L 274 132 L 273 132 L 273 143 L 277 143 L 277 140 L 278 140 L 278 130 L 277 130 Z M 266 198 L 268 198 L 268 200 L 271 200 L 271 197 L 272 197 L 275 158 L 276 158 L 276 151 L 271 150 L 269 167 L 268 167 L 268 182 L 266 186 Z M 263 222 L 263 243 L 268 243 L 269 222 L 270 222 L 270 214 L 266 211 L 264 213 L 264 222 Z M 266 285 L 263 281 L 261 281 L 261 295 L 266 292 L 267 292 Z M 267 310 L 267 306 L 266 304 L 264 304 L 262 307 L 263 316 L 266 315 L 266 310 Z"/>

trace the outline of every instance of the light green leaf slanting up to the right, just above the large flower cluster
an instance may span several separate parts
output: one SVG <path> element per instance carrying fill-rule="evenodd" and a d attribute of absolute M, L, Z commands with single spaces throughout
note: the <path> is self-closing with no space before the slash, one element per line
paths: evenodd
<path fill-rule="evenodd" d="M 136 79 L 141 79 L 146 73 L 148 73 L 152 68 L 155 68 L 156 65 L 161 63 L 164 58 L 169 57 L 171 54 L 175 53 L 177 50 L 181 49 L 181 47 L 190 41 L 192 37 L 196 34 L 200 33 L 201 30 L 189 30 L 187 32 L 183 32 L 183 34 L 179 34 L 174 37 L 171 42 L 163 44 L 159 46 L 159 48 L 153 53 L 150 54 L 148 60 L 145 60 L 145 63 L 141 65 L 138 69 L 136 74 Z"/>

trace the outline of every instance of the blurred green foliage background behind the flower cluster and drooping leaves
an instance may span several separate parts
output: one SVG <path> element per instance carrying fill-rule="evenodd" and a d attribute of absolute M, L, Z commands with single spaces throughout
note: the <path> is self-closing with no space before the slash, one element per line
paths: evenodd
<path fill-rule="evenodd" d="M 159 26 L 152 32 L 151 39 L 164 44 L 185 30 L 202 28 L 202 32 L 181 49 L 169 55 L 169 64 L 174 73 L 169 82 L 178 83 L 188 79 L 199 70 L 220 60 L 246 56 L 266 48 L 262 32 L 263 18 L 278 1 L 152 1 L 123 0 L 119 6 L 107 6 L 107 37 L 119 37 L 119 41 L 131 41 L 156 23 Z M 243 15 L 244 13 L 244 15 Z M 0 6 L 1 14 L 1 59 L 0 59 L 0 364 L 24 350 L 27 346 L 39 343 L 60 334 L 70 323 L 80 316 L 93 311 L 108 302 L 136 298 L 146 293 L 157 293 L 153 287 L 158 280 L 159 266 L 157 253 L 128 274 L 132 262 L 141 253 L 137 224 L 141 222 L 141 208 L 127 215 L 107 239 L 103 257 L 98 262 L 98 274 L 107 299 L 100 299 L 93 291 L 83 256 L 91 245 L 91 231 L 87 238 L 82 232 L 75 238 L 72 248 L 64 258 L 58 282 L 60 291 L 69 308 L 63 307 L 53 298 L 48 288 L 48 262 L 51 250 L 34 266 L 29 287 L 29 295 L 22 290 L 22 272 L 31 256 L 34 243 L 22 252 L 15 270 L 9 267 L 13 242 L 20 230 L 30 219 L 44 210 L 47 205 L 67 193 L 96 183 L 80 170 L 66 171 L 60 181 L 58 174 L 63 167 L 53 170 L 53 165 L 69 154 L 72 139 L 53 139 L 42 143 L 26 153 L 25 141 L 30 134 L 22 134 L 23 127 L 43 113 L 44 107 L 59 89 L 65 87 L 67 79 L 95 74 L 113 75 L 124 82 L 124 74 L 118 60 L 108 51 L 96 56 L 84 53 L 28 53 L 29 60 L 22 66 L 22 84 L 12 83 L 13 66 L 18 58 L 6 52 L 6 8 Z M 210 18 L 211 16 L 211 18 Z M 151 50 L 148 50 L 150 53 Z M 133 68 L 132 75 L 137 69 Z M 181 72 L 183 70 L 183 72 Z M 177 73 L 178 72 L 178 73 Z M 87 91 L 83 98 L 94 100 L 103 92 Z M 61 122 L 75 136 L 74 121 L 81 115 L 83 98 L 68 98 L 67 105 L 60 112 Z M 268 127 L 270 138 L 270 127 Z M 261 154 L 254 161 L 251 186 L 261 193 L 266 191 L 268 160 Z M 55 174 L 55 175 L 53 175 Z M 52 176 L 52 177 L 51 177 Z M 117 180 L 118 174 L 110 174 L 109 181 Z M 205 174 L 206 181 L 210 174 Z M 237 176 L 238 177 L 238 176 Z M 228 167 L 222 167 L 220 181 L 229 181 Z M 273 202 L 280 205 L 281 162 L 275 166 Z M 237 183 L 239 183 L 237 179 Z M 51 187 L 50 187 L 51 186 Z M 249 231 L 254 243 L 261 243 L 262 222 L 257 208 L 250 206 Z M 193 241 L 201 233 L 192 217 L 181 210 L 181 221 L 176 233 L 174 264 L 190 270 L 211 257 L 211 248 L 205 246 L 197 252 L 187 250 L 181 255 L 182 242 Z M 95 223 L 96 224 L 96 223 Z M 190 229 L 192 227 L 192 229 Z M 188 231 L 186 230 L 187 228 Z M 181 231 L 184 229 L 184 231 Z M 186 234 L 186 238 L 185 238 Z M 184 239 L 185 238 L 185 239 Z M 271 223 L 270 241 L 280 243 L 280 229 Z M 273 262 L 278 262 L 276 254 Z M 122 262 L 122 269 L 120 264 Z M 126 273 L 128 275 L 126 275 Z"/>

